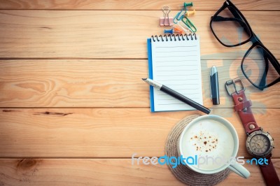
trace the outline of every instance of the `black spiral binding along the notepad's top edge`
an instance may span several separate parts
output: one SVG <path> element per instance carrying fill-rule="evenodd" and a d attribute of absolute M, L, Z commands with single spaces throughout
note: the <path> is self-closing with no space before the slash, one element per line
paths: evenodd
<path fill-rule="evenodd" d="M 155 36 L 152 36 L 151 37 L 152 39 L 153 39 L 153 42 L 155 42 L 155 41 L 158 41 L 158 42 L 160 42 L 160 41 L 181 41 L 181 40 L 183 40 L 183 41 L 189 41 L 189 40 L 197 40 L 197 35 L 196 34 L 185 34 L 185 35 L 183 35 L 183 34 L 169 34 L 169 35 L 160 35 L 160 36 L 157 36 L 157 35 L 155 35 Z"/>

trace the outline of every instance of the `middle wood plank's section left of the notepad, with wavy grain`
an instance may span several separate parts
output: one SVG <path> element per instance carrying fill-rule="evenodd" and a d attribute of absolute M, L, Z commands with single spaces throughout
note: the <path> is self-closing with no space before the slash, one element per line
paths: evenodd
<path fill-rule="evenodd" d="M 146 60 L 2 60 L 0 63 L 5 66 L 0 71 L 6 76 L 0 78 L 1 106 L 149 106 L 148 85 L 141 82 L 141 77 L 147 76 Z"/>

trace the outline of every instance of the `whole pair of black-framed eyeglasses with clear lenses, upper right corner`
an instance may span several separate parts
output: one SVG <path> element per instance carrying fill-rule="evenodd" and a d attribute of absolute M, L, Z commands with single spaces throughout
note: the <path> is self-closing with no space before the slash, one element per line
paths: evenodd
<path fill-rule="evenodd" d="M 211 17 L 210 28 L 216 39 L 226 47 L 235 47 L 251 41 L 253 44 L 241 61 L 241 71 L 248 81 L 260 90 L 280 82 L 280 64 L 253 33 L 244 15 L 231 2 Z"/>

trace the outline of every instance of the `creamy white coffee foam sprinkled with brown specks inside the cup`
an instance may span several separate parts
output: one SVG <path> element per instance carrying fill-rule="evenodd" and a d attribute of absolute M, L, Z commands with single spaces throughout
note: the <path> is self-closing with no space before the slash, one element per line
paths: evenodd
<path fill-rule="evenodd" d="M 183 135 L 182 143 L 185 158 L 197 155 L 197 157 L 205 158 L 221 157 L 226 160 L 232 156 L 235 145 L 230 129 L 216 120 L 200 120 L 192 124 Z M 221 161 L 217 160 L 217 162 Z M 209 159 L 208 164 L 200 164 L 196 167 L 202 170 L 214 170 L 223 165 Z"/>

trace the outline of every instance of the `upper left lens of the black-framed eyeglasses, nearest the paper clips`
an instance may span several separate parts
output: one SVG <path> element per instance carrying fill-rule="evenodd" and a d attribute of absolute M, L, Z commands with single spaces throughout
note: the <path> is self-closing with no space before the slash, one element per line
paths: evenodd
<path fill-rule="evenodd" d="M 235 15 L 232 13 L 235 13 Z M 246 22 L 231 6 L 228 6 L 213 18 L 211 27 L 218 40 L 225 45 L 237 45 L 247 41 L 251 36 Z"/>

